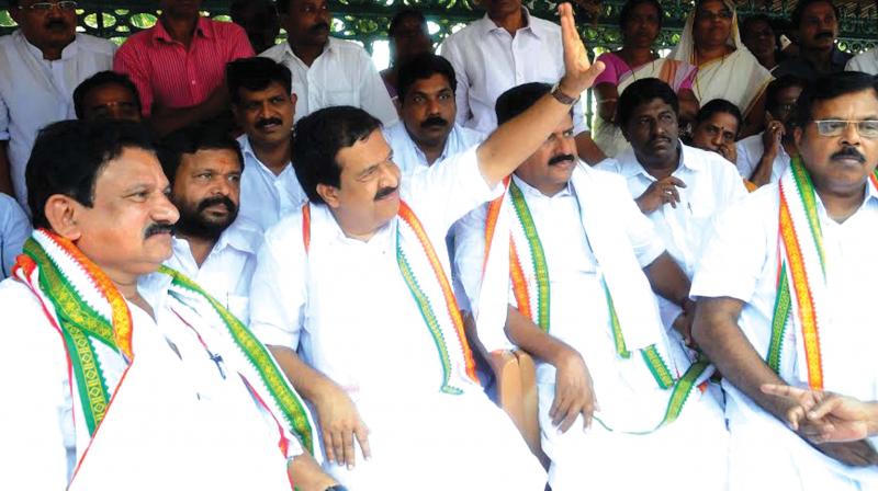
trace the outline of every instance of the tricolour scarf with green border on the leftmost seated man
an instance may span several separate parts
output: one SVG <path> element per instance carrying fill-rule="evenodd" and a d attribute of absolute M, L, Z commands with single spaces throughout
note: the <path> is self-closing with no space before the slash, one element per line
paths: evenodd
<path fill-rule="evenodd" d="M 64 341 L 81 460 L 135 362 L 131 311 L 93 262 L 72 242 L 45 229 L 35 230 L 24 244 L 13 274 L 40 299 Z M 224 362 L 278 423 L 279 449 L 290 456 L 290 438 L 295 437 L 313 453 L 311 416 L 268 350 L 191 279 L 164 266 L 158 274 L 171 278 L 172 301 L 199 312 L 206 326 L 222 333 Z"/>

